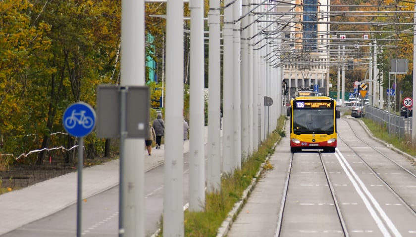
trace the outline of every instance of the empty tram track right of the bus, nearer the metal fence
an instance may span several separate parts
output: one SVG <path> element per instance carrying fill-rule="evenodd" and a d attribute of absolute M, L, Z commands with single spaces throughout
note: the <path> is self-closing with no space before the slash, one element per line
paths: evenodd
<path fill-rule="evenodd" d="M 354 136 L 363 144 L 365 144 L 367 147 L 371 148 L 373 151 L 375 151 L 378 155 L 380 155 L 383 158 L 386 158 L 387 160 L 389 160 L 391 163 L 395 164 L 396 166 L 400 167 L 400 169 L 407 175 L 409 175 L 410 177 L 416 178 L 416 174 L 413 173 L 412 171 L 410 171 L 409 169 L 407 169 L 406 167 L 404 167 L 403 165 L 401 165 L 400 163 L 398 163 L 397 161 L 395 161 L 394 159 L 388 157 L 386 154 L 384 154 L 382 151 L 380 151 L 379 149 L 377 149 L 376 147 L 372 146 L 371 144 L 369 144 L 368 142 L 366 142 L 365 140 L 363 140 L 362 138 L 360 138 L 360 136 L 357 135 L 357 132 L 354 130 L 353 126 L 351 125 L 350 121 L 348 121 L 348 119 L 344 119 L 347 121 L 348 126 L 351 128 Z M 342 139 L 342 136 L 340 136 L 338 134 L 338 140 L 341 140 L 344 142 L 344 144 L 358 157 L 360 158 L 360 160 L 362 160 L 363 164 L 371 171 L 371 173 L 373 173 L 378 180 L 380 180 L 380 182 L 382 182 L 385 187 L 392 192 L 401 202 L 403 205 L 405 205 L 411 212 L 413 212 L 413 214 L 416 216 L 416 206 L 412 206 L 410 204 L 410 200 L 407 200 L 406 198 L 403 197 L 402 194 L 400 194 L 400 191 L 398 191 L 397 189 L 395 189 L 395 187 L 397 185 L 391 185 L 390 182 L 388 180 L 386 180 L 386 178 L 381 177 L 381 175 L 379 174 L 380 172 L 377 172 L 376 168 L 373 168 L 364 158 L 363 156 L 360 156 L 360 154 L 350 145 L 348 145 L 347 142 L 345 142 L 345 140 Z"/>

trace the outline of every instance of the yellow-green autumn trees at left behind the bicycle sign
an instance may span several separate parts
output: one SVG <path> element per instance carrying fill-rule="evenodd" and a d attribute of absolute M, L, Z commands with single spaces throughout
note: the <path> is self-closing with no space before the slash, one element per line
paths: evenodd
<path fill-rule="evenodd" d="M 146 3 L 146 33 L 155 38 L 154 52 L 148 44 L 146 52 L 157 63 L 159 79 L 166 20 L 149 15 L 165 14 L 166 3 Z M 185 14 L 189 16 L 187 4 Z M 97 85 L 120 82 L 120 19 L 121 0 L 1 1 L 1 154 L 16 157 L 76 144 L 73 137 L 62 134 L 63 112 L 77 101 L 95 107 Z M 146 82 L 152 98 L 158 98 L 160 83 Z M 104 143 L 94 132 L 87 136 L 87 157 L 104 150 Z M 48 155 L 43 151 L 20 160 L 42 164 Z M 72 162 L 74 151 L 54 155 Z"/>

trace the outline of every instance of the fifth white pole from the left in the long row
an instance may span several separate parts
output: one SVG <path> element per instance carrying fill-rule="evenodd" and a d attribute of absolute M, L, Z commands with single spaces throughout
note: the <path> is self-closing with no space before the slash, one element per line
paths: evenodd
<path fill-rule="evenodd" d="M 233 157 L 233 8 L 231 2 L 224 1 L 223 46 L 223 99 L 222 99 L 222 171 L 231 173 Z"/>

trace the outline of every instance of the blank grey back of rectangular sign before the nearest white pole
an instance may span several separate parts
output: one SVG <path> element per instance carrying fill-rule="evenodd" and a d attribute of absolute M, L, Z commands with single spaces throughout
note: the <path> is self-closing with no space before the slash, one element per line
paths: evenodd
<path fill-rule="evenodd" d="M 126 104 L 121 108 L 121 95 Z M 97 89 L 97 137 L 117 138 L 121 134 L 121 112 L 126 115 L 127 138 L 145 138 L 149 124 L 148 86 L 99 85 Z"/>

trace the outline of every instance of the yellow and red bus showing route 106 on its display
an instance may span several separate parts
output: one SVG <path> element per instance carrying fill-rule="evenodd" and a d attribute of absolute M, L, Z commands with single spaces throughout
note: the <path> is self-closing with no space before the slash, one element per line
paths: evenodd
<path fill-rule="evenodd" d="M 290 151 L 319 149 L 335 152 L 337 147 L 337 118 L 335 100 L 326 96 L 300 96 L 290 101 Z"/>

